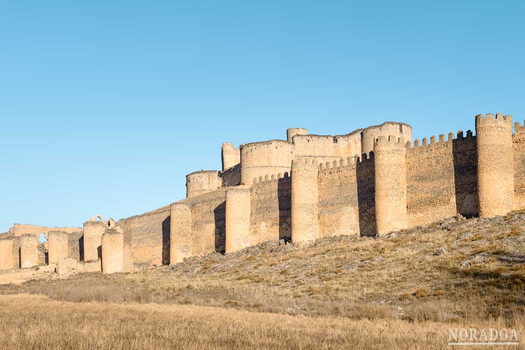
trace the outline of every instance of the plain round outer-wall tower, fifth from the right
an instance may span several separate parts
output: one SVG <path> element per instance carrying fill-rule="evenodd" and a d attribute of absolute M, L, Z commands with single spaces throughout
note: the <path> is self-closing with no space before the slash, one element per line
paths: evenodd
<path fill-rule="evenodd" d="M 192 256 L 192 210 L 189 204 L 170 206 L 170 264 Z"/>

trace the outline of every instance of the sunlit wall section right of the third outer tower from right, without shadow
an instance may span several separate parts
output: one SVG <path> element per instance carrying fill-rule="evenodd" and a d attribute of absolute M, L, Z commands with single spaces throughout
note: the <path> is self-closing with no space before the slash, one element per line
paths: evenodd
<path fill-rule="evenodd" d="M 359 234 L 355 158 L 321 164 L 318 176 L 320 236 Z"/>

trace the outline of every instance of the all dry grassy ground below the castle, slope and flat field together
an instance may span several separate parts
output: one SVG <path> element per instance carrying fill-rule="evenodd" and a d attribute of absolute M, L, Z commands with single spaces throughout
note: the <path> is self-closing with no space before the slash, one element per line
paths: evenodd
<path fill-rule="evenodd" d="M 450 327 L 511 327 L 521 341 L 525 212 L 0 293 L 0 344 L 10 349 L 437 349 Z"/>

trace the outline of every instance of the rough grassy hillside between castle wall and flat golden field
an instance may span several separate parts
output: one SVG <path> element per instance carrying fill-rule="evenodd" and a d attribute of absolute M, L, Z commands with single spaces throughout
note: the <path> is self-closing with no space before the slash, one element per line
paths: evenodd
<path fill-rule="evenodd" d="M 301 316 L 286 320 L 298 322 L 297 327 L 304 320 L 312 325 L 335 322 L 347 330 L 371 327 L 361 334 L 363 339 L 392 325 L 398 327 L 400 335 L 407 327 L 406 335 L 411 339 L 421 337 L 421 341 L 434 344 L 428 340 L 428 330 L 434 330 L 437 340 L 448 336 L 437 330 L 448 330 L 454 324 L 523 324 L 524 263 L 525 212 L 514 212 L 491 219 L 458 216 L 379 238 L 331 237 L 304 247 L 261 245 L 135 274 L 33 280 L 19 286 L 0 286 L 0 293 L 40 293 L 69 302 L 186 305 L 174 310 L 201 305 L 208 308 L 195 310 L 230 312 L 228 317 L 249 315 L 246 317 L 250 320 L 268 322 L 285 317 L 275 315 L 278 313 L 302 315 L 311 319 Z M 138 305 L 129 307 L 140 309 Z M 409 334 L 411 327 L 421 333 Z M 272 329 L 286 331 L 280 321 Z M 311 330 L 313 338 L 308 340 L 313 343 L 316 341 L 312 339 L 320 336 L 314 329 L 316 326 Z M 321 338 L 326 341 L 327 337 L 324 334 Z M 345 339 L 356 341 L 353 337 Z M 301 346 L 308 348 L 313 343 Z M 415 344 L 407 341 L 401 348 Z"/>

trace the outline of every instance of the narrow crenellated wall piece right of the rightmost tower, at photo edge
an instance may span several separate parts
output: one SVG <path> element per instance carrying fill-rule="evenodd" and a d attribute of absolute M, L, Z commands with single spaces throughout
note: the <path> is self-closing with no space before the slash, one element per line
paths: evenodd
<path fill-rule="evenodd" d="M 525 207 L 525 122 L 514 123 L 512 148 L 514 152 L 514 210 Z"/>

